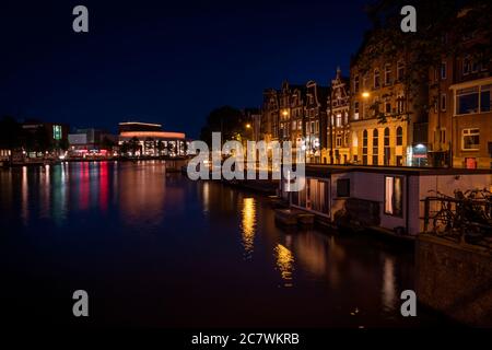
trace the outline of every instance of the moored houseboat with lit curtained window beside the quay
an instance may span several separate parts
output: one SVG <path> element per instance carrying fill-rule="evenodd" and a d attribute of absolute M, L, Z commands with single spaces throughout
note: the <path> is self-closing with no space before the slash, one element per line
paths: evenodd
<path fill-rule="evenodd" d="M 289 186 L 280 183 L 280 196 L 318 221 L 413 236 L 424 229 L 425 198 L 491 190 L 492 170 L 306 164 L 304 189 Z M 440 203 L 432 206 L 436 212 Z"/>

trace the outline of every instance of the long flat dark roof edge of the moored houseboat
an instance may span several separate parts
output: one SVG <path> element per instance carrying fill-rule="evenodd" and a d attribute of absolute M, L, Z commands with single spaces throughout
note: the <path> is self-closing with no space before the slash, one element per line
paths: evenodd
<path fill-rule="evenodd" d="M 414 166 L 367 166 L 367 165 L 328 165 L 328 164 L 306 164 L 307 175 L 324 176 L 341 173 L 382 173 L 401 174 L 413 176 L 425 175 L 480 175 L 492 174 L 492 168 L 459 168 L 459 167 L 414 167 Z"/>

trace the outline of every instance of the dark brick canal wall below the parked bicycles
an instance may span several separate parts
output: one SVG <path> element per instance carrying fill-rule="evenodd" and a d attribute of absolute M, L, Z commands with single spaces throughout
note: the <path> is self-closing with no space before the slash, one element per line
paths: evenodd
<path fill-rule="evenodd" d="M 492 253 L 431 235 L 415 246 L 419 301 L 471 326 L 492 327 Z"/>

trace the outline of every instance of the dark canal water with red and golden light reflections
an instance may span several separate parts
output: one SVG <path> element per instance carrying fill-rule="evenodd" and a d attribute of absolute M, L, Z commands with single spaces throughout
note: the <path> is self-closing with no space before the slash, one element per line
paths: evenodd
<path fill-rule="evenodd" d="M 0 170 L 2 317 L 11 325 L 414 327 L 411 249 L 286 233 L 261 196 L 162 162 Z M 85 290 L 90 317 L 72 316 Z M 7 313 L 7 315 L 5 315 Z"/>

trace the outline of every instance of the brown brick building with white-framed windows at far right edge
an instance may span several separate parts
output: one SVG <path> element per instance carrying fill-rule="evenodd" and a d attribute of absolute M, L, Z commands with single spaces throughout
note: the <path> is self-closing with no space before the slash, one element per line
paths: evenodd
<path fill-rule="evenodd" d="M 459 14 L 458 14 L 459 19 Z M 446 40 L 460 40 L 464 50 L 443 56 L 430 71 L 429 144 L 434 166 L 492 167 L 492 65 L 480 59 L 491 38 L 472 32 Z"/>

